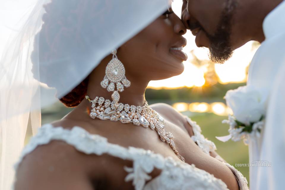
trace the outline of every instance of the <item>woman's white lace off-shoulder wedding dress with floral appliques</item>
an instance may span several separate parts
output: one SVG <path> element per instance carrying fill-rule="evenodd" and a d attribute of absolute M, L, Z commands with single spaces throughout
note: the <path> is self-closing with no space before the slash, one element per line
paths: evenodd
<path fill-rule="evenodd" d="M 209 154 L 210 151 L 215 150 L 215 144 L 205 139 L 201 134 L 200 126 L 188 117 L 186 119 L 194 132 L 194 136 L 191 138 L 202 151 Z M 16 171 L 18 165 L 27 154 L 31 153 L 37 146 L 48 144 L 52 140 L 64 141 L 85 154 L 102 155 L 107 153 L 111 156 L 133 161 L 133 167 L 125 166 L 124 170 L 129 173 L 125 177 L 125 181 L 132 181 L 135 190 L 227 189 L 227 185 L 223 181 L 204 170 L 196 168 L 194 164 L 176 162 L 170 156 L 164 158 L 160 154 L 142 148 L 125 148 L 117 144 L 111 144 L 108 143 L 107 138 L 97 134 L 90 134 L 79 126 L 74 126 L 71 130 L 53 127 L 51 124 L 42 126 L 38 134 L 24 148 L 19 162 L 15 164 Z M 216 159 L 223 162 L 219 156 Z M 230 164 L 223 163 L 235 174 L 240 189 L 248 190 L 246 178 Z M 157 177 L 151 179 L 151 176 L 148 174 L 153 171 L 154 167 L 161 169 L 162 172 Z M 146 181 L 148 182 L 146 183 Z"/>

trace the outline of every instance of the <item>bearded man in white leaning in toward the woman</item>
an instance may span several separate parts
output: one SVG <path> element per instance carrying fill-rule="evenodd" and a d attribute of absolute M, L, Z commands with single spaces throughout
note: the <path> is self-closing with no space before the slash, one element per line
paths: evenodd
<path fill-rule="evenodd" d="M 268 94 L 266 123 L 249 155 L 272 163 L 250 168 L 250 190 L 284 189 L 285 175 L 285 1 L 183 0 L 181 19 L 207 47 L 210 59 L 224 63 L 246 42 L 261 43 L 248 74 L 247 85 Z M 238 63 L 237 63 L 238 64 Z"/>

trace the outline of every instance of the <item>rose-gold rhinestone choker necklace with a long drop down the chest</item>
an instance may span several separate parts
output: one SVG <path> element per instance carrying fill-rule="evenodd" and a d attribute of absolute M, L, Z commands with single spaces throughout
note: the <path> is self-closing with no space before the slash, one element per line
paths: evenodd
<path fill-rule="evenodd" d="M 155 129 L 160 139 L 168 143 L 178 158 L 185 162 L 183 156 L 175 148 L 173 134 L 164 130 L 164 119 L 148 106 L 147 101 L 145 101 L 143 106 L 130 106 L 118 102 L 116 104 L 98 96 L 94 100 L 91 100 L 89 96 L 85 96 L 85 98 L 92 103 L 92 110 L 89 114 L 92 119 L 121 121 L 124 124 L 132 123 L 145 128 L 150 127 L 152 130 Z"/>

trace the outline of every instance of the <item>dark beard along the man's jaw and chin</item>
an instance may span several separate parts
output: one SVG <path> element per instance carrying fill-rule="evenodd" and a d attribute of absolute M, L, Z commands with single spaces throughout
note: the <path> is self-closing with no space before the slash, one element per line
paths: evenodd
<path fill-rule="evenodd" d="M 230 44 L 230 34 L 232 17 L 236 7 L 236 0 L 228 0 L 215 34 L 206 33 L 210 40 L 209 58 L 215 63 L 224 63 L 232 57 L 233 50 Z"/>

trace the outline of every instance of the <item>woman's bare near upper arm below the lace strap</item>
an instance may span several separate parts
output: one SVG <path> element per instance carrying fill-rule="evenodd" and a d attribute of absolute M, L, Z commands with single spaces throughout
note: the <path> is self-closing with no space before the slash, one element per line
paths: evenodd
<path fill-rule="evenodd" d="M 40 145 L 27 154 L 16 171 L 15 190 L 93 189 L 82 157 L 62 141 Z"/>

